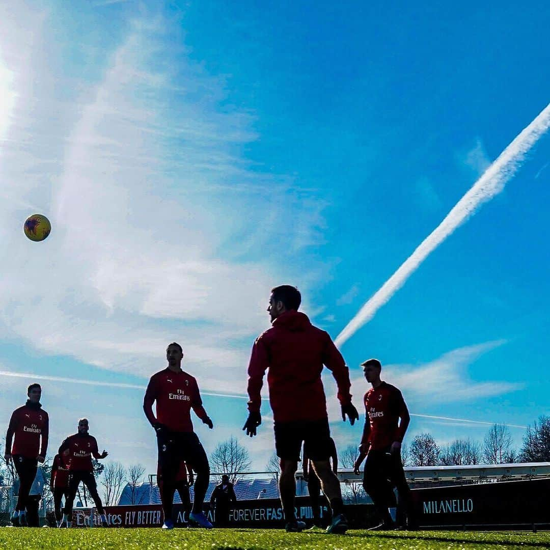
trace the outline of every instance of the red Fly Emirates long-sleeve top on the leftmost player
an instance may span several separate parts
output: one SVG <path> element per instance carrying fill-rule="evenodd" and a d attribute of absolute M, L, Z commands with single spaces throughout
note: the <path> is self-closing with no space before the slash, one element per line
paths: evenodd
<path fill-rule="evenodd" d="M 48 413 L 42 409 L 40 403 L 27 401 L 12 413 L 8 431 L 5 434 L 5 452 L 25 456 L 25 458 L 37 458 L 38 455 L 45 457 L 48 450 L 49 431 Z"/>

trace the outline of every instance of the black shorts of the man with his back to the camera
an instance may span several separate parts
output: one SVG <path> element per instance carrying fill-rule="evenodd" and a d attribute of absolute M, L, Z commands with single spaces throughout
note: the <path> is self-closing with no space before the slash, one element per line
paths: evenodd
<path fill-rule="evenodd" d="M 307 456 L 328 460 L 331 456 L 331 430 L 328 418 L 322 420 L 295 420 L 275 422 L 275 449 L 282 460 L 300 460 L 302 442 Z"/>

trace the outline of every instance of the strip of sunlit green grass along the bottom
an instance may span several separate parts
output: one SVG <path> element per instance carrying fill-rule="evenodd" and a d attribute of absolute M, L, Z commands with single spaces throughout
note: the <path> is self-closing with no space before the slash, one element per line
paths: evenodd
<path fill-rule="evenodd" d="M 10 550 L 359 550 L 372 548 L 471 549 L 550 548 L 550 532 L 349 531 L 346 535 L 287 533 L 264 529 L 29 529 L 0 528 L 0 548 Z"/>

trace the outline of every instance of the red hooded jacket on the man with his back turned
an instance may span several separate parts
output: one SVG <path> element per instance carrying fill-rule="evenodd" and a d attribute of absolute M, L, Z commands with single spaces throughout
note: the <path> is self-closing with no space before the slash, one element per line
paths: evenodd
<path fill-rule="evenodd" d="M 327 332 L 307 315 L 285 311 L 257 338 L 248 367 L 248 408 L 260 411 L 260 390 L 266 370 L 273 419 L 322 420 L 327 417 L 321 371 L 332 371 L 342 405 L 351 402 L 349 370 Z"/>

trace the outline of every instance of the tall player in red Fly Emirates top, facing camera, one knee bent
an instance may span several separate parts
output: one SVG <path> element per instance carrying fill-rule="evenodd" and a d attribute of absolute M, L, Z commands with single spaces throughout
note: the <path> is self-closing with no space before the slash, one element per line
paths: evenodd
<path fill-rule="evenodd" d="M 173 342 L 166 349 L 168 367 L 149 381 L 143 409 L 157 434 L 158 457 L 162 472 L 161 500 L 164 511 L 162 529 L 174 529 L 172 504 L 180 462 L 183 460 L 196 472 L 193 509 L 189 519 L 201 527 L 212 529 L 202 512 L 202 504 L 210 481 L 210 465 L 201 442 L 193 431 L 191 409 L 210 429 L 212 420 L 202 406 L 199 386 L 193 376 L 182 370 L 182 346 Z M 157 416 L 153 403 L 157 403 Z"/>

